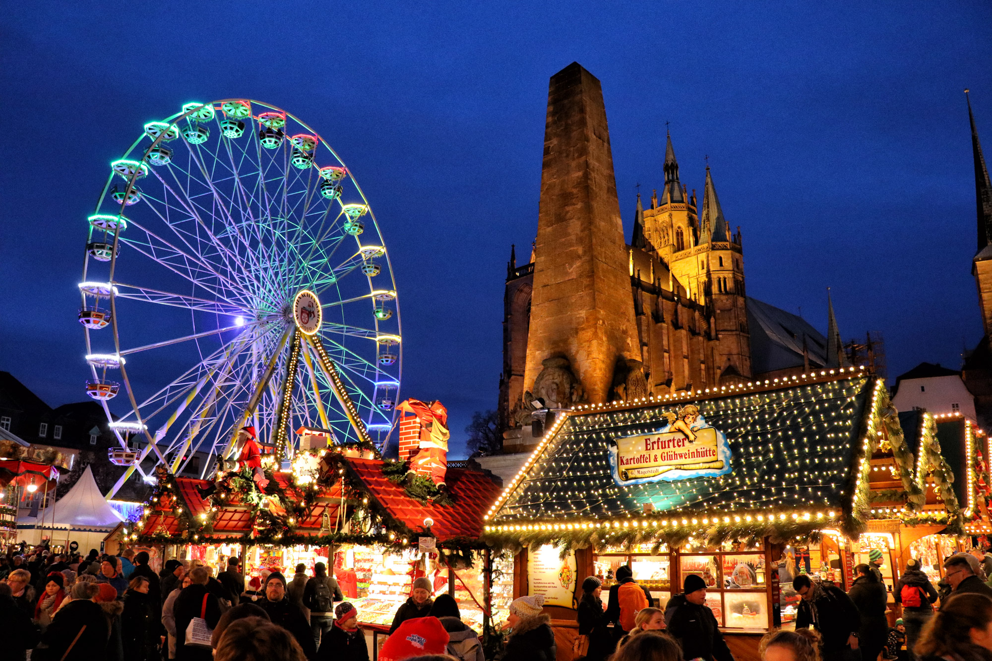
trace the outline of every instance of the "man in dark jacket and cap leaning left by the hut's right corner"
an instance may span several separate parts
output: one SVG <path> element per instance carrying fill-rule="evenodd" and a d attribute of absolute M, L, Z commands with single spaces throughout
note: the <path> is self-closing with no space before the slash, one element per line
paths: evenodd
<path fill-rule="evenodd" d="M 823 658 L 834 659 L 858 648 L 861 615 L 844 591 L 813 583 L 805 574 L 793 580 L 793 590 L 803 597 L 796 613 L 796 628 L 815 628 L 822 638 Z"/>

